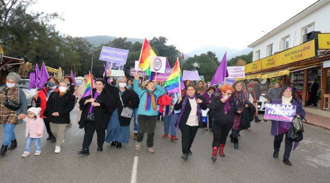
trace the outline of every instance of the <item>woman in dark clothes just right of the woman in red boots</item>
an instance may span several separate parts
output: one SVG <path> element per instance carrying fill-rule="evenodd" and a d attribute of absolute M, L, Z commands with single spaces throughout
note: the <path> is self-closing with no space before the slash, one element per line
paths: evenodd
<path fill-rule="evenodd" d="M 236 106 L 239 110 L 242 110 L 242 113 L 237 113 L 234 118 L 234 125 L 232 128 L 232 134 L 230 134 L 230 142 L 234 143 L 234 148 L 239 149 L 238 146 L 238 135 L 242 129 L 246 129 L 247 124 L 250 121 L 250 117 L 255 112 L 255 108 L 252 103 L 249 102 L 249 93 L 243 90 L 243 84 L 240 81 L 236 81 L 233 84 L 235 88 L 233 98 L 235 100 Z M 247 115 L 243 115 L 247 114 Z"/>

